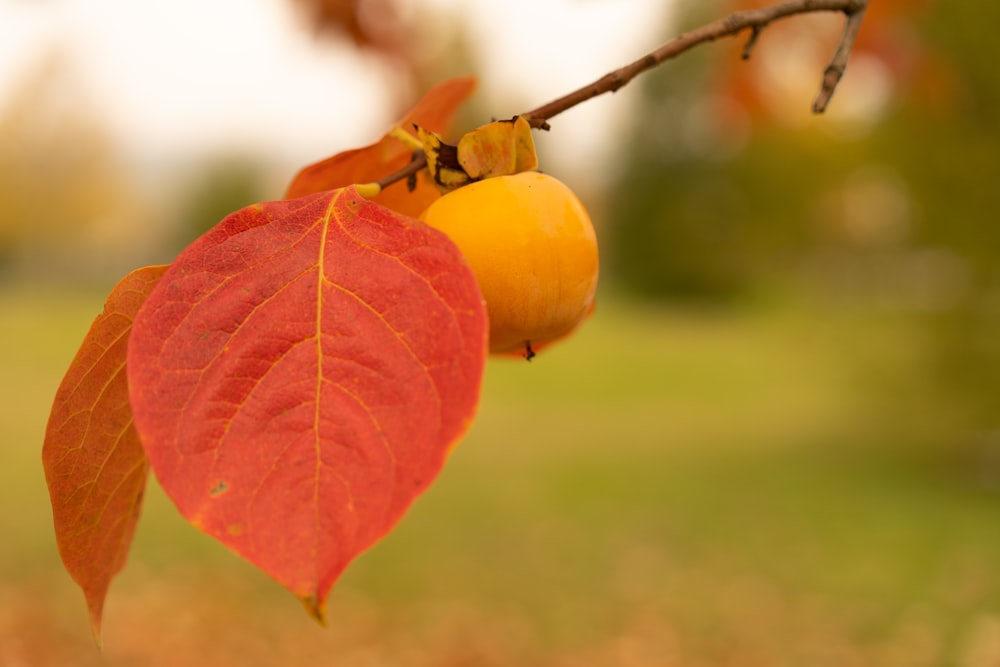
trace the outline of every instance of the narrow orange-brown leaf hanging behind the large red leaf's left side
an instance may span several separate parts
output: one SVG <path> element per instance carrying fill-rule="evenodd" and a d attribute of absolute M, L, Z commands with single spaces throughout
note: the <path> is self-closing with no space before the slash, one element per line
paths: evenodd
<path fill-rule="evenodd" d="M 59 385 L 42 447 L 59 553 L 83 588 L 98 643 L 104 598 L 125 565 L 149 470 L 132 426 L 127 342 L 166 268 L 133 271 L 112 290 Z"/>

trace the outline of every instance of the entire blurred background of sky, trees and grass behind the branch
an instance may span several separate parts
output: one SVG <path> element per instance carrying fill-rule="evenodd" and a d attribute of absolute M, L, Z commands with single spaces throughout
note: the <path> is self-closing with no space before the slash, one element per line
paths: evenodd
<path fill-rule="evenodd" d="M 990 3 L 701 47 L 537 135 L 596 314 L 480 417 L 315 625 L 150 490 L 103 655 L 40 451 L 104 296 L 480 77 L 456 130 L 758 2 L 0 0 L 0 665 L 1000 665 Z M 991 213 L 992 211 L 992 213 Z"/>

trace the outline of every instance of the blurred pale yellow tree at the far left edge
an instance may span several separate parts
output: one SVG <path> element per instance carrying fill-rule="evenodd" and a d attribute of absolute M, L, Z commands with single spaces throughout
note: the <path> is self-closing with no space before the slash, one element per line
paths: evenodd
<path fill-rule="evenodd" d="M 110 270 L 128 261 L 139 206 L 69 63 L 53 53 L 0 109 L 0 265 Z"/>

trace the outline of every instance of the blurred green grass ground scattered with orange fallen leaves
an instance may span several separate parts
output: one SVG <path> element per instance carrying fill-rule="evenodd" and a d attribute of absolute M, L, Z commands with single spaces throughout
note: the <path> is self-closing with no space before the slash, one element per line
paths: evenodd
<path fill-rule="evenodd" d="M 490 362 L 471 432 L 329 627 L 154 485 L 99 654 L 40 449 L 102 300 L 0 290 L 3 667 L 1000 665 L 1000 494 L 919 436 L 947 415 L 907 389 L 905 323 L 614 295 L 533 362 Z"/>

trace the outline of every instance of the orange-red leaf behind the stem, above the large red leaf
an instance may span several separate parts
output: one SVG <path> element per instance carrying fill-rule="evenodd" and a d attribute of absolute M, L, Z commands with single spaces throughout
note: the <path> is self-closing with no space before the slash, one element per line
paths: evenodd
<path fill-rule="evenodd" d="M 444 133 L 459 104 L 472 94 L 475 87 L 476 80 L 472 77 L 451 79 L 438 84 L 410 109 L 397 127 L 414 134 L 413 124 L 416 123 L 438 134 Z M 370 146 L 339 153 L 305 167 L 292 180 L 285 198 L 293 199 L 354 183 L 377 181 L 405 167 L 412 152 L 399 139 L 386 134 Z M 426 174 L 421 174 L 413 192 L 407 191 L 404 183 L 395 183 L 386 188 L 375 201 L 386 208 L 416 217 L 440 196 L 437 186 Z"/>

